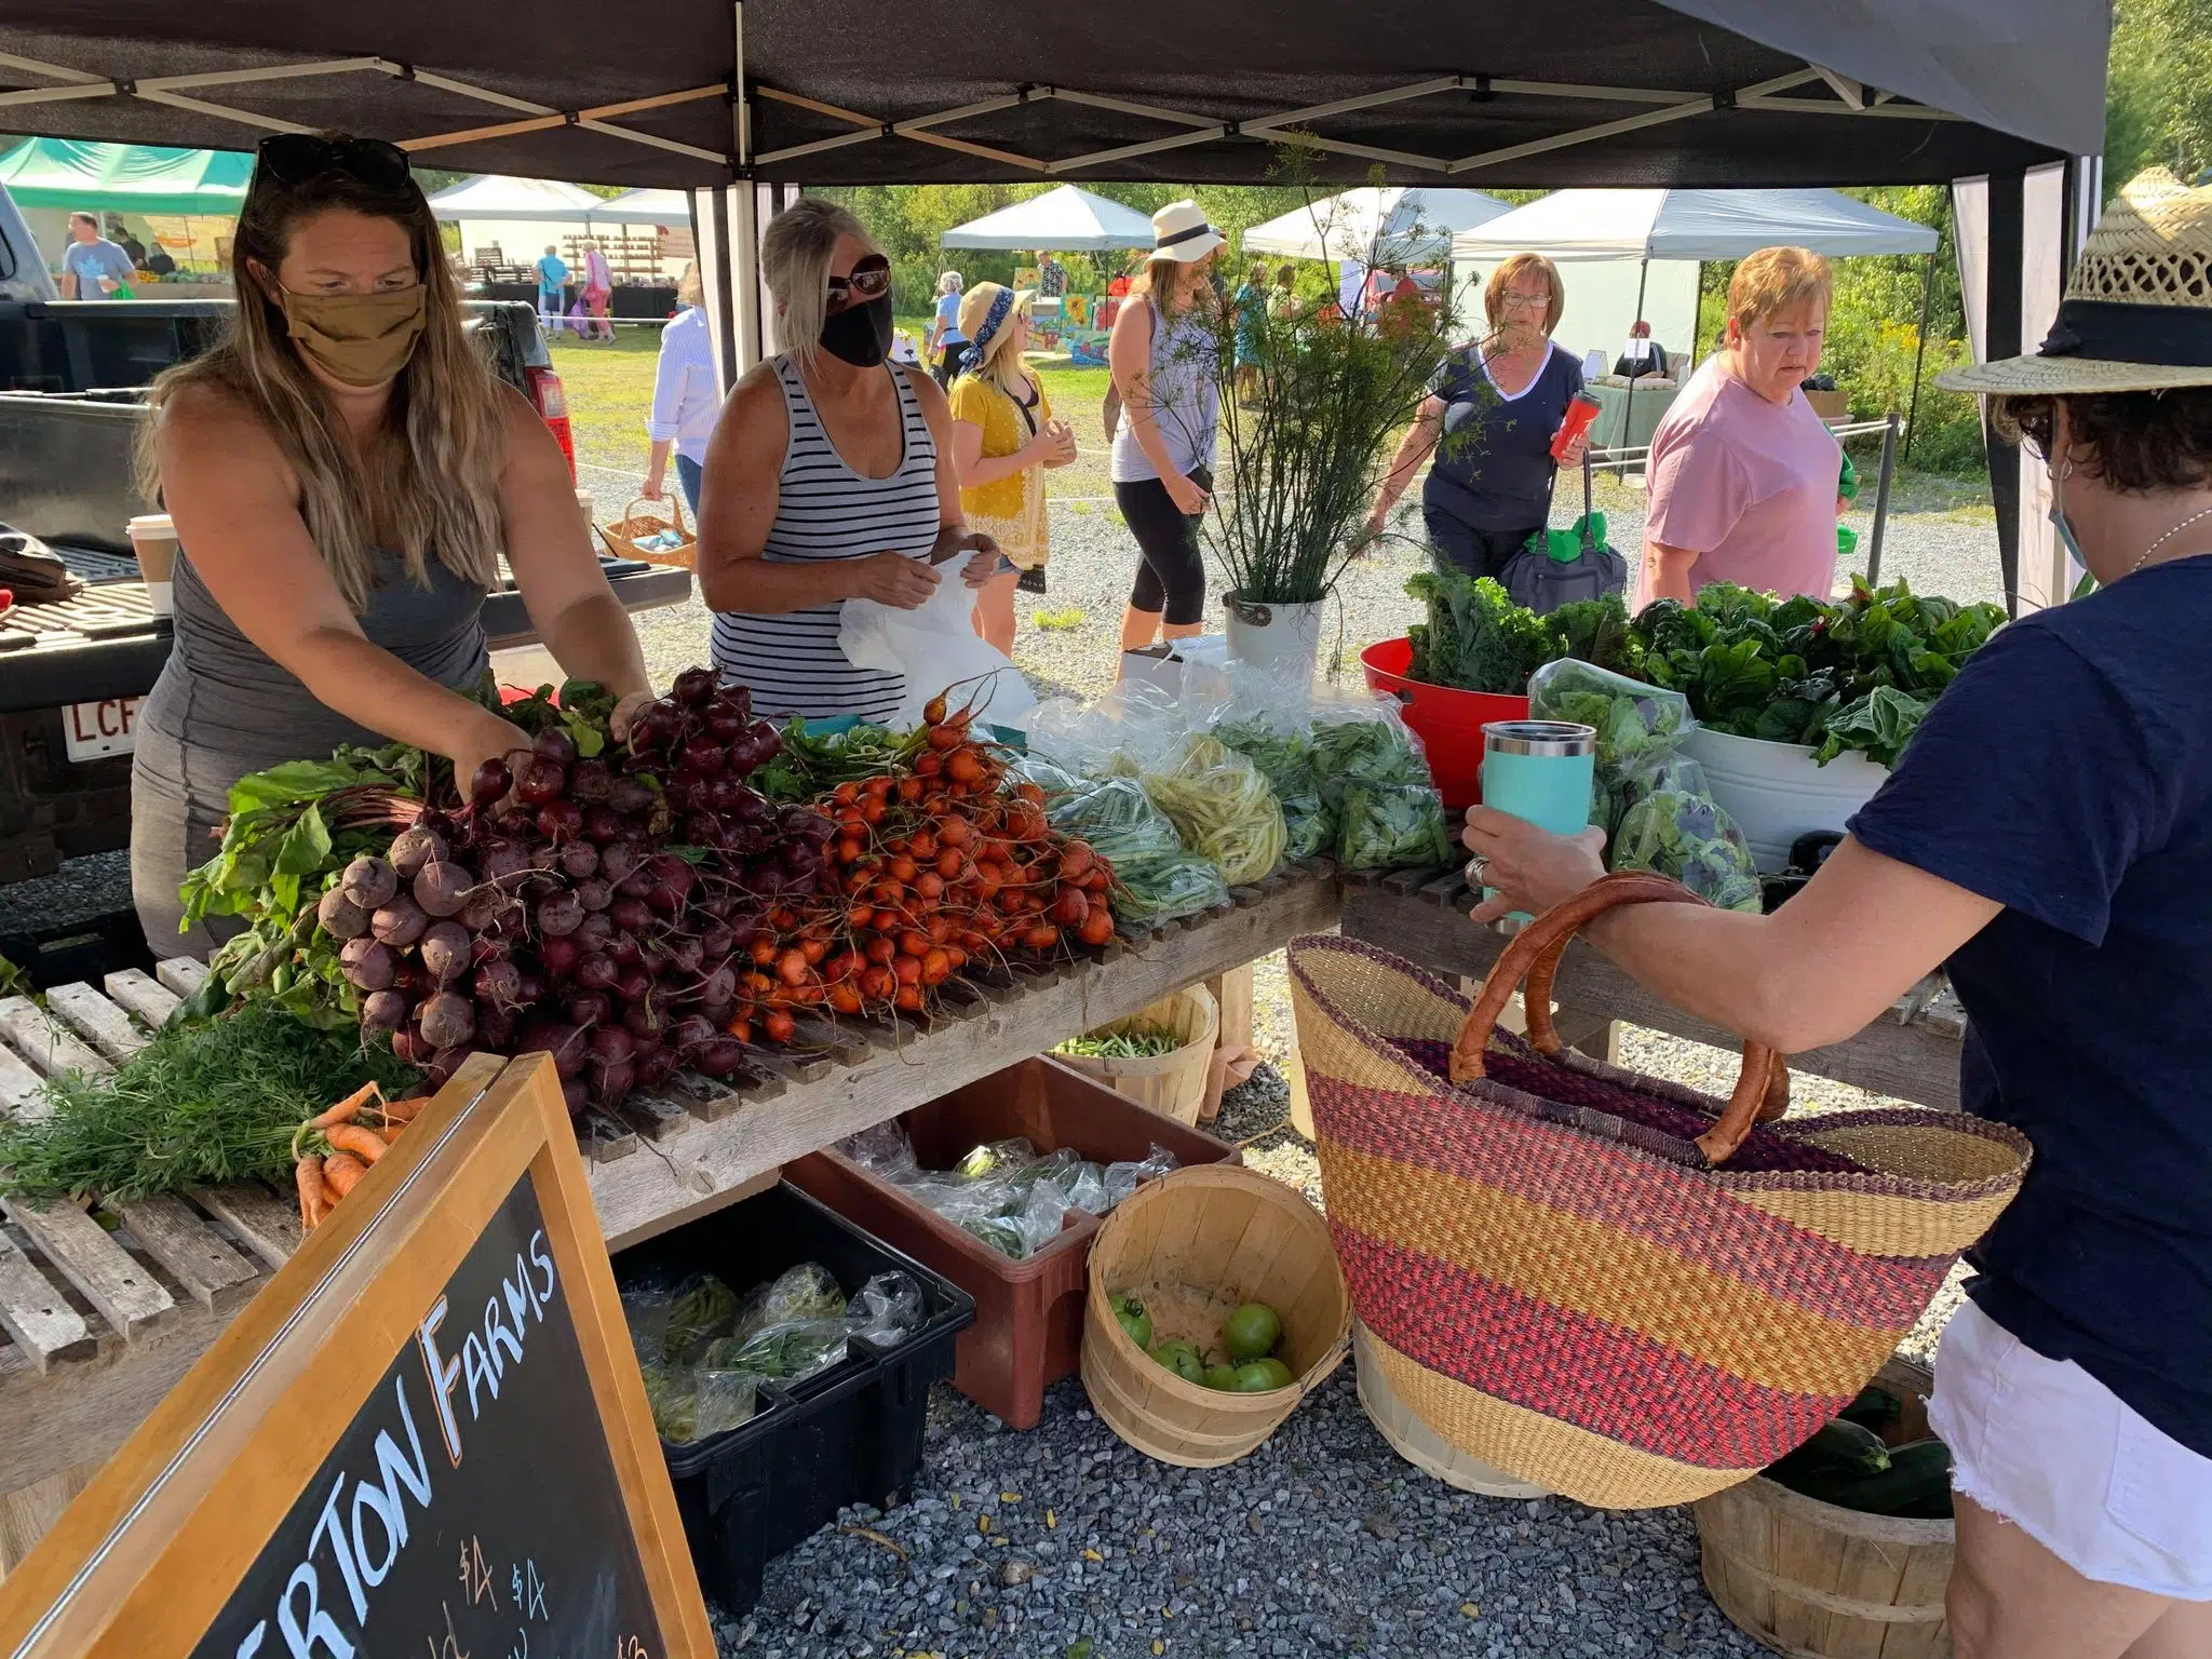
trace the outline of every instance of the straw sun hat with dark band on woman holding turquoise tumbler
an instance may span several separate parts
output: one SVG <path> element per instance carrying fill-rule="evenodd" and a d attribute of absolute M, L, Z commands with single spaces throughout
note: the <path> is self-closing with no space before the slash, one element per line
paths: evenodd
<path fill-rule="evenodd" d="M 2212 190 L 2135 175 L 2075 263 L 2035 356 L 1936 376 L 1947 392 L 2093 396 L 2212 385 Z"/>

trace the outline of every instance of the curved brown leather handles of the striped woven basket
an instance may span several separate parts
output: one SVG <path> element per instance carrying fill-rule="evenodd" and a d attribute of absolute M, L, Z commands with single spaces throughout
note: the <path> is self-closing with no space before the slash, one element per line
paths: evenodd
<path fill-rule="evenodd" d="M 1564 1046 L 1559 1031 L 1551 1022 L 1551 987 L 1559 973 L 1559 960 L 1575 933 L 1597 916 L 1619 905 L 1703 905 L 1705 900 L 1679 880 L 1652 876 L 1641 869 L 1621 869 L 1604 880 L 1595 880 L 1579 894 L 1528 922 L 1511 945 L 1498 956 L 1498 964 L 1482 982 L 1482 995 L 1467 1011 L 1460 1037 L 1451 1046 L 1451 1082 L 1464 1084 L 1482 1075 L 1482 1055 L 1491 1046 L 1491 1033 L 1504 1013 L 1506 1000 L 1526 982 L 1522 1004 L 1528 1015 L 1528 1042 L 1537 1053 L 1555 1055 Z M 1697 1150 L 1708 1164 L 1725 1164 L 1752 1124 L 1765 1124 L 1790 1110 L 1790 1066 L 1783 1055 L 1763 1042 L 1743 1044 L 1743 1071 L 1736 1091 L 1728 1099 L 1721 1121 L 1697 1137 Z"/>

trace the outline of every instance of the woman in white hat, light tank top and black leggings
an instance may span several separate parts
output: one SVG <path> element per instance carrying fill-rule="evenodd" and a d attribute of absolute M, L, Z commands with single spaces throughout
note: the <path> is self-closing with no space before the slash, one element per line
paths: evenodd
<path fill-rule="evenodd" d="M 1152 215 L 1152 259 L 1115 319 L 1106 361 L 1121 398 L 1113 498 L 1137 538 L 1121 650 L 1188 639 L 1206 617 L 1199 520 L 1214 487 L 1214 330 L 1206 316 L 1223 237 L 1197 201 Z"/>

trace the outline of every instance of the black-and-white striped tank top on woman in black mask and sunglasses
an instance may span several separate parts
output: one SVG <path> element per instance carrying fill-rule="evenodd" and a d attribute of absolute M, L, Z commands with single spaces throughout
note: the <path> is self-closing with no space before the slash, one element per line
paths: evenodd
<path fill-rule="evenodd" d="M 942 518 L 938 442 L 905 372 L 885 367 L 898 387 L 905 434 L 898 467 L 889 478 L 863 478 L 823 431 L 799 363 L 785 354 L 774 365 L 790 438 L 776 473 L 776 522 L 761 557 L 860 560 L 885 551 L 927 557 Z M 717 611 L 714 670 L 726 686 L 750 686 L 754 710 L 768 717 L 889 719 L 907 695 L 905 677 L 852 666 L 836 641 L 843 608 L 834 599 L 807 611 Z"/>

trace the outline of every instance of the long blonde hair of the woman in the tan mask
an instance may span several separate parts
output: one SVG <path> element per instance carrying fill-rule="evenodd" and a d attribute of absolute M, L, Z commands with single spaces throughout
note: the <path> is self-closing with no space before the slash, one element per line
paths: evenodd
<path fill-rule="evenodd" d="M 268 285 L 292 234 L 321 212 L 358 212 L 407 230 L 422 281 L 422 336 L 392 383 L 383 425 L 356 447 L 330 392 L 292 345 L 283 307 Z M 422 192 L 374 190 L 343 173 L 301 186 L 254 170 L 230 246 L 239 303 L 223 341 L 179 363 L 146 392 L 139 427 L 139 491 L 161 498 L 159 429 L 179 394 L 219 392 L 246 405 L 299 478 L 307 522 L 338 595 L 358 617 L 376 586 L 376 553 L 398 553 L 407 580 L 429 586 L 429 560 L 480 588 L 500 584 L 500 469 L 507 407 L 491 365 L 460 325 L 460 288 L 447 265 Z"/>

